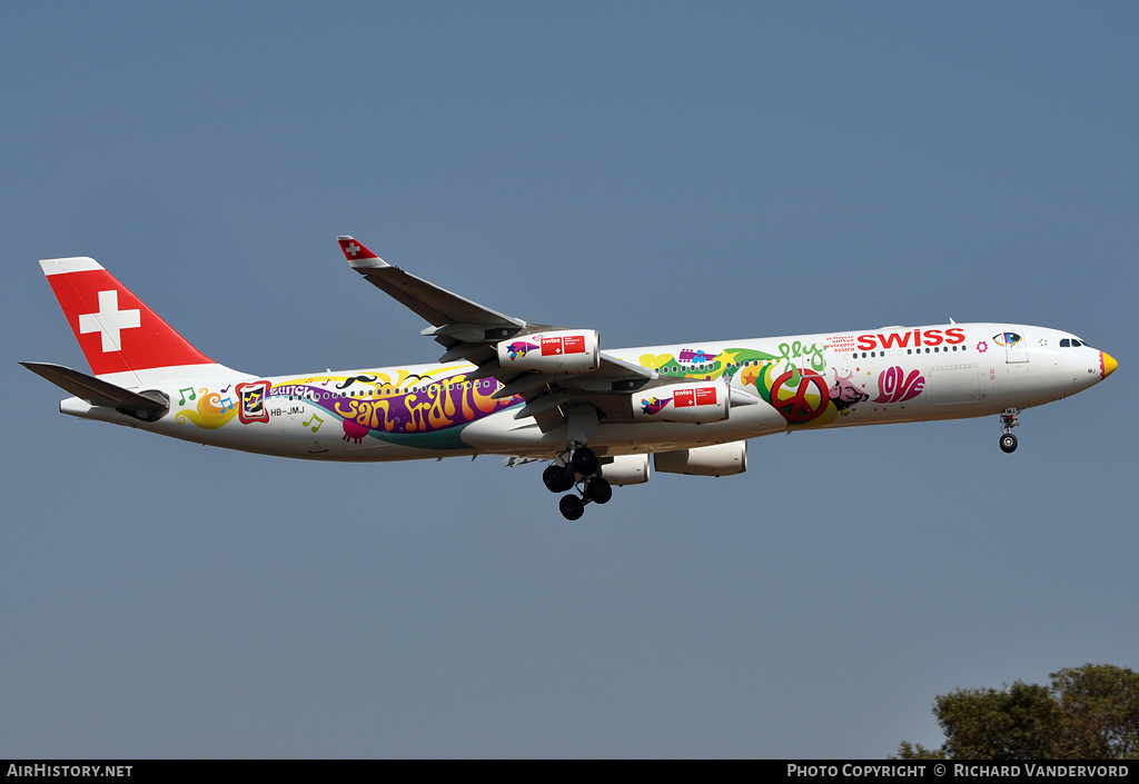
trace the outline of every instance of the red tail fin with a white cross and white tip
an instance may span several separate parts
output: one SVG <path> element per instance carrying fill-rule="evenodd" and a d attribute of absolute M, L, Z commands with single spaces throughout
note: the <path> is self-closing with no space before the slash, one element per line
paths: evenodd
<path fill-rule="evenodd" d="M 95 259 L 48 259 L 40 267 L 95 375 L 214 365 Z"/>

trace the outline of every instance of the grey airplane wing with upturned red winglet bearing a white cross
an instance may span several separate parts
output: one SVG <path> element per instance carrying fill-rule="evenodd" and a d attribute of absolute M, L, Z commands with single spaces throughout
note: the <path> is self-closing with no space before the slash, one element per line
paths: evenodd
<path fill-rule="evenodd" d="M 502 387 L 494 394 L 495 398 L 521 395 L 526 405 L 515 414 L 515 418 L 532 416 L 543 432 L 562 424 L 574 406 L 592 406 L 599 416 L 609 420 L 630 420 L 628 393 L 657 378 L 655 370 L 626 362 L 599 349 L 597 361 L 582 369 L 503 366 L 499 344 L 514 341 L 511 345 L 532 346 L 535 353 L 544 352 L 544 345 L 540 349 L 525 338 L 557 333 L 562 328 L 506 316 L 440 288 L 388 264 L 353 237 L 342 236 L 336 240 L 352 269 L 431 325 L 420 334 L 434 337 L 443 346 L 441 362 L 465 359 L 477 366 L 467 377 L 497 379 Z M 558 349 L 562 349 L 560 343 Z M 566 351 L 568 353 L 570 349 Z M 620 394 L 622 392 L 624 397 Z"/>

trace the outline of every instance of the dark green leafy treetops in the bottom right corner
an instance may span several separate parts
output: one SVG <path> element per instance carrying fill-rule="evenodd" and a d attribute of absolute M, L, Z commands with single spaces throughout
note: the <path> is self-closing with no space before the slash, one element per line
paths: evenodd
<path fill-rule="evenodd" d="M 1051 685 L 1016 681 L 1001 691 L 958 688 L 934 700 L 940 749 L 902 742 L 900 759 L 1136 759 L 1139 673 L 1084 664 L 1051 673 Z"/>

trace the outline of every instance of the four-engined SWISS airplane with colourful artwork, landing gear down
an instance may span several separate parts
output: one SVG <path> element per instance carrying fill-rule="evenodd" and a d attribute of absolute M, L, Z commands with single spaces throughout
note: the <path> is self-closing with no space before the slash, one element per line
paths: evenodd
<path fill-rule="evenodd" d="M 1016 324 L 950 324 L 603 350 L 596 329 L 532 324 L 388 264 L 351 236 L 350 267 L 420 316 L 435 362 L 256 376 L 207 358 L 89 258 L 40 262 L 91 374 L 21 362 L 71 393 L 63 414 L 312 460 L 497 455 L 546 463 L 577 520 L 614 485 L 747 469 L 772 433 L 998 415 L 1107 378 L 1111 354 Z M 652 457 L 652 460 L 650 460 Z"/>

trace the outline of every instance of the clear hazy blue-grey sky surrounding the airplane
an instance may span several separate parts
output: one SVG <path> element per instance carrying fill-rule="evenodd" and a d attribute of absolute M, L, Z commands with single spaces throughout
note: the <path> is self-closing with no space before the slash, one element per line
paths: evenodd
<path fill-rule="evenodd" d="M 875 758 L 1139 669 L 1133 3 L 0 7 L 0 757 Z M 255 374 L 429 361 L 334 237 L 605 345 L 1007 320 L 1118 371 L 777 435 L 575 524 L 534 466 L 60 416 L 36 260 Z"/>

